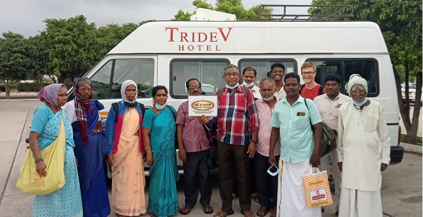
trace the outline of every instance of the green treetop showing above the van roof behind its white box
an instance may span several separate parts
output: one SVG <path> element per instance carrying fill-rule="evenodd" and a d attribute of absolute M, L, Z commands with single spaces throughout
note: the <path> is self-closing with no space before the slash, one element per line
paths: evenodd
<path fill-rule="evenodd" d="M 206 0 L 194 0 L 192 2 L 196 8 L 205 8 L 230 14 L 235 14 L 237 20 L 253 20 L 257 17 L 257 9 L 260 5 L 255 5 L 250 9 L 246 9 L 242 4 L 242 0 L 216 0 L 216 5 L 213 7 Z M 271 14 L 273 8 L 264 8 L 263 13 Z M 182 9 L 174 15 L 174 20 L 190 20 L 191 15 L 195 14 L 188 11 L 184 12 Z"/>

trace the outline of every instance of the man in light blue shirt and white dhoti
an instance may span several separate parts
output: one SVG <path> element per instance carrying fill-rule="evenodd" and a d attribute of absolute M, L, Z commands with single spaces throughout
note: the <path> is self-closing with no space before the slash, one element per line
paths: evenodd
<path fill-rule="evenodd" d="M 281 139 L 277 215 L 321 217 L 319 207 L 305 208 L 302 175 L 318 172 L 322 143 L 322 127 L 319 123 L 322 117 L 311 99 L 304 99 L 298 94 L 299 76 L 288 73 L 284 79 L 287 97 L 276 104 L 270 120 L 271 165 L 277 163 L 273 149 L 277 139 Z"/>

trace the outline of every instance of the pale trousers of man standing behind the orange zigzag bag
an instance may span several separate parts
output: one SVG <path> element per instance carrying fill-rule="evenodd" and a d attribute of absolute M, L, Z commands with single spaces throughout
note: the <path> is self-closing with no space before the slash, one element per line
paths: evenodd
<path fill-rule="evenodd" d="M 329 161 L 332 162 L 332 166 L 329 164 Z M 341 171 L 338 168 L 338 153 L 337 149 L 332 150 L 329 154 L 320 158 L 319 171 L 327 171 L 328 176 L 332 172 L 332 178 L 335 182 L 335 201 L 336 201 L 336 210 L 339 210 L 339 200 L 341 198 Z"/>

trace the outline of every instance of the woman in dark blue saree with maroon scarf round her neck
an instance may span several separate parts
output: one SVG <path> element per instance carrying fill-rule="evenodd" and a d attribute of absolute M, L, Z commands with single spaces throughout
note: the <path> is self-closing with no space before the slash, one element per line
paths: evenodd
<path fill-rule="evenodd" d="M 76 80 L 74 94 L 75 99 L 66 103 L 63 111 L 74 133 L 84 217 L 107 217 L 110 204 L 103 158 L 110 147 L 104 138 L 99 114 L 104 106 L 92 100 L 92 84 L 87 78 Z"/>

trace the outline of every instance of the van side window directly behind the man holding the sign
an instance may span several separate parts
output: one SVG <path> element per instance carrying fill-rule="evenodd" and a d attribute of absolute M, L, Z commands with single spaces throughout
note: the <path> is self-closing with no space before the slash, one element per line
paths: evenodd
<path fill-rule="evenodd" d="M 186 81 L 196 78 L 201 82 L 202 94 L 213 95 L 224 87 L 223 71 L 229 64 L 227 59 L 174 59 L 171 61 L 170 94 L 173 98 L 187 98 Z"/>

